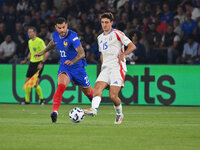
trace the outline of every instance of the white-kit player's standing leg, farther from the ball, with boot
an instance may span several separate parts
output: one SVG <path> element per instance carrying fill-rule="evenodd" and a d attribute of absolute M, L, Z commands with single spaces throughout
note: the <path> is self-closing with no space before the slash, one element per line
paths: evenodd
<path fill-rule="evenodd" d="M 118 96 L 120 90 L 121 90 L 121 87 L 119 86 L 110 86 L 110 90 L 109 90 L 109 95 L 110 95 L 111 100 L 114 103 L 114 108 L 116 111 L 116 119 L 115 119 L 114 124 L 121 124 L 124 117 L 122 113 L 121 100 Z"/>

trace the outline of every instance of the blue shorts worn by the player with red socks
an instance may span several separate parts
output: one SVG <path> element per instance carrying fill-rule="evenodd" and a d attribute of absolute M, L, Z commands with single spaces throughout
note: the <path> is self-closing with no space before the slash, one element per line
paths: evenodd
<path fill-rule="evenodd" d="M 60 65 L 58 70 L 58 76 L 65 72 L 71 80 L 74 81 L 75 84 L 82 86 L 82 87 L 89 87 L 90 81 L 88 79 L 88 75 L 84 67 L 70 67 L 68 65 Z"/>

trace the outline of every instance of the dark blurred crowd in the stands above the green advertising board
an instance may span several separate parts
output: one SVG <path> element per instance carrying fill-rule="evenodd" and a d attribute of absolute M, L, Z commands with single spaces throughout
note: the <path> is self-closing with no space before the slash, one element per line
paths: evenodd
<path fill-rule="evenodd" d="M 113 27 L 137 45 L 135 57 L 127 58 L 128 63 L 199 64 L 199 7 L 199 0 L 0 0 L 0 63 L 17 64 L 27 55 L 29 26 L 35 26 L 38 36 L 48 43 L 55 18 L 63 16 L 69 28 L 78 33 L 87 62 L 98 64 L 96 37 L 102 32 L 99 15 L 111 11 L 115 16 Z M 188 37 L 195 43 L 196 52 L 195 59 L 185 60 Z M 5 41 L 10 43 L 6 53 Z M 47 63 L 58 62 L 57 51 L 52 51 Z"/>

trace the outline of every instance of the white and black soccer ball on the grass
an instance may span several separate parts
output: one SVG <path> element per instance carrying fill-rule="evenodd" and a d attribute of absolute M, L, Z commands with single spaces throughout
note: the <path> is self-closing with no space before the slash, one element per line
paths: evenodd
<path fill-rule="evenodd" d="M 69 112 L 69 118 L 74 123 L 78 123 L 80 121 L 83 121 L 83 119 L 84 119 L 84 111 L 82 109 L 78 108 L 78 107 L 73 108 Z"/>

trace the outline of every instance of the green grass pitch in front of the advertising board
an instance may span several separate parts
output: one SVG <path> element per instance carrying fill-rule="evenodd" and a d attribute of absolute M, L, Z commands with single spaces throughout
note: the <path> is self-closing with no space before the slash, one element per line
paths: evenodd
<path fill-rule="evenodd" d="M 69 120 L 62 105 L 57 123 L 51 105 L 0 105 L 0 150 L 198 150 L 200 107 L 123 106 L 124 121 L 114 125 L 113 106 L 97 117 Z"/>

